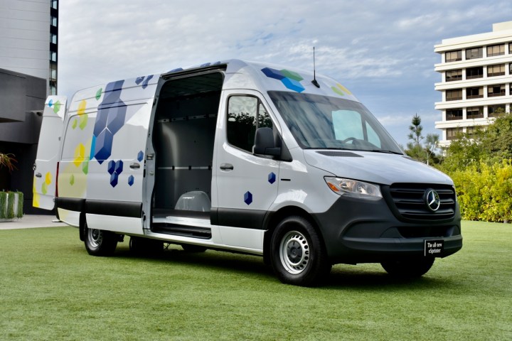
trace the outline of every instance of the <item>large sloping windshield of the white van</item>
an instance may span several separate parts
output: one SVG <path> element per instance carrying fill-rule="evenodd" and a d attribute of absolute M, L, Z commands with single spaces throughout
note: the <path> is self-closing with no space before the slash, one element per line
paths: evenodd
<path fill-rule="evenodd" d="M 318 94 L 270 91 L 269 95 L 302 148 L 402 154 L 361 103 Z"/>

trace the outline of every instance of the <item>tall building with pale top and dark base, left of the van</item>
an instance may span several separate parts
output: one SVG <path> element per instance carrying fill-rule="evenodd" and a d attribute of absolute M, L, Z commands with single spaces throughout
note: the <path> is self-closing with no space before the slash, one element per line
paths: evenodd
<path fill-rule="evenodd" d="M 46 96 L 57 94 L 58 0 L 0 0 L 0 153 L 17 170 L 0 168 L 0 190 L 21 190 L 32 209 L 36 159 Z"/>

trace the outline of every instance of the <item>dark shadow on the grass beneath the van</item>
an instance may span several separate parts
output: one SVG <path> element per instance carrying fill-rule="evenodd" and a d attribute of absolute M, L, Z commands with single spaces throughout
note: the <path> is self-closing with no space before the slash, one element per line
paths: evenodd
<path fill-rule="evenodd" d="M 261 280 L 278 283 L 279 280 L 272 271 L 271 266 L 265 265 L 262 257 L 246 254 L 236 254 L 227 251 L 188 252 L 181 247 L 171 247 L 156 255 L 134 254 L 126 246 L 119 245 L 114 254 L 118 259 L 140 259 L 155 262 L 155 264 L 175 264 L 208 269 L 208 271 L 221 271 L 223 273 L 239 274 L 241 276 L 257 276 Z M 435 267 L 435 265 L 434 265 Z M 434 269 L 434 268 L 433 268 Z M 386 291 L 393 288 L 395 291 L 411 291 L 417 289 L 456 288 L 459 285 L 445 276 L 436 278 L 433 274 L 426 274 L 420 278 L 397 278 L 388 275 L 380 265 L 336 265 L 331 274 L 321 283 L 320 288 L 338 290 Z"/>

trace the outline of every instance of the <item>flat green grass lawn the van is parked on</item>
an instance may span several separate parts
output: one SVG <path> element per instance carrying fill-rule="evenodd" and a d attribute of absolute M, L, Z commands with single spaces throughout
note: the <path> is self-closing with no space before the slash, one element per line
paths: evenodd
<path fill-rule="evenodd" d="M 512 226 L 463 222 L 425 276 L 334 266 L 280 283 L 260 257 L 172 247 L 89 256 L 78 229 L 0 231 L 1 340 L 512 340 Z"/>

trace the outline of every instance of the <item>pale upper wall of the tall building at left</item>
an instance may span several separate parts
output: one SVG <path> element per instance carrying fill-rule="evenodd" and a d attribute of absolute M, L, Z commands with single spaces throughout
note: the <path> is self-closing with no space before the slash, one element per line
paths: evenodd
<path fill-rule="evenodd" d="M 0 0 L 0 68 L 48 79 L 50 0 Z"/>

